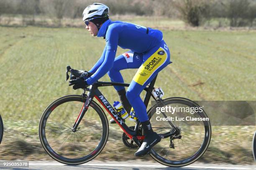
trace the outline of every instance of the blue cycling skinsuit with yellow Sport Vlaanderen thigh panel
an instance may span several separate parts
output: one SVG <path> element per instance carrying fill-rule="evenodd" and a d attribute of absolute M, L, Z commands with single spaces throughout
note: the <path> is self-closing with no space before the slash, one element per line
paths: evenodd
<path fill-rule="evenodd" d="M 94 74 L 86 80 L 87 84 L 93 84 L 106 73 L 111 81 L 123 83 L 120 70 L 138 69 L 126 96 L 139 121 L 147 121 L 146 106 L 140 94 L 170 61 L 170 52 L 163 40 L 163 34 L 159 30 L 140 25 L 107 20 L 100 27 L 97 36 L 106 39 L 106 46 L 100 59 L 89 71 Z M 130 51 L 115 58 L 118 46 Z M 125 87 L 114 88 L 119 91 Z"/>

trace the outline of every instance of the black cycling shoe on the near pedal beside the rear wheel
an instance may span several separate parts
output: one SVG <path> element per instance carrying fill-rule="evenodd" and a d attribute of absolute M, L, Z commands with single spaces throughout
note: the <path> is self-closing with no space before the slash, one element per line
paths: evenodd
<path fill-rule="evenodd" d="M 151 148 L 160 141 L 161 141 L 161 137 L 156 132 L 148 134 L 143 140 L 141 147 L 138 149 L 138 151 L 134 155 L 143 156 L 143 155 L 149 154 Z"/>

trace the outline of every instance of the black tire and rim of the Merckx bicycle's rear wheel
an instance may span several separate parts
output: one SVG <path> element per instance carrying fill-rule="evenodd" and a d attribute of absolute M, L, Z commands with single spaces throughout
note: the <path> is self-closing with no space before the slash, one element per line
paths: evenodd
<path fill-rule="evenodd" d="M 180 98 L 180 97 L 172 97 L 172 98 L 164 99 L 163 103 L 164 103 L 164 105 L 167 105 L 167 104 L 183 104 L 183 105 L 186 105 L 186 106 L 189 106 L 189 107 L 200 107 L 194 101 L 191 101 L 191 100 L 185 99 L 185 98 Z M 159 107 L 162 107 L 164 105 L 163 104 L 159 104 Z M 158 107 L 157 104 L 155 104 L 153 107 L 151 107 L 148 110 L 148 117 L 149 117 L 149 119 L 151 119 L 151 117 L 153 117 L 154 109 L 156 109 L 156 107 Z M 207 118 L 207 115 L 206 115 L 205 111 L 203 111 L 202 115 L 200 115 L 200 116 Z M 153 121 L 153 119 L 151 120 L 151 124 L 152 124 L 152 121 Z M 164 125 L 161 125 L 161 126 L 164 126 Z M 152 124 L 152 127 L 154 127 L 154 124 Z M 151 157 L 154 160 L 156 160 L 157 162 L 159 162 L 159 163 L 161 163 L 163 165 L 166 165 L 166 166 L 170 166 L 170 167 L 182 167 L 182 166 L 186 166 L 186 165 L 189 165 L 189 164 L 195 162 L 196 160 L 198 160 L 205 153 L 205 151 L 207 150 L 207 148 L 208 148 L 208 146 L 210 144 L 211 133 L 212 133 L 211 132 L 210 121 L 202 121 L 202 128 L 201 129 L 202 129 L 202 132 L 205 133 L 205 134 L 202 134 L 202 138 L 204 138 L 204 140 L 202 142 L 202 145 L 199 147 L 197 152 L 195 152 L 195 154 L 191 155 L 187 159 L 184 159 L 184 160 L 168 160 L 168 159 L 166 159 L 164 157 L 161 157 L 158 153 L 156 153 L 156 151 L 154 150 L 154 147 L 156 147 L 156 146 L 154 146 L 153 149 L 151 150 L 151 153 L 150 153 Z M 163 141 L 163 139 L 162 139 L 162 141 Z M 160 144 L 161 142 L 159 142 L 159 145 L 161 145 Z M 164 146 L 166 146 L 166 145 L 164 144 Z M 169 147 L 169 146 L 166 146 L 166 147 Z M 185 150 L 185 149 L 181 148 L 181 150 Z M 173 151 L 173 153 L 175 153 L 175 149 L 172 149 L 172 151 Z M 180 153 L 178 153 L 178 154 L 180 154 Z"/>

